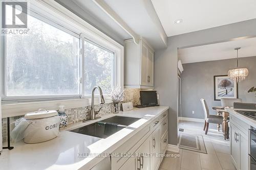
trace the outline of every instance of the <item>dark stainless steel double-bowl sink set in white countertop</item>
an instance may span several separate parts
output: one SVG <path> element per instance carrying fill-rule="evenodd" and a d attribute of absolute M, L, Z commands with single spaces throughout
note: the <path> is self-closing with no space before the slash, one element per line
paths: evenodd
<path fill-rule="evenodd" d="M 80 133 L 84 135 L 95 136 L 99 138 L 107 138 L 110 135 L 120 131 L 139 120 L 140 118 L 113 116 L 90 124 L 81 128 L 71 130 L 71 132 Z"/>

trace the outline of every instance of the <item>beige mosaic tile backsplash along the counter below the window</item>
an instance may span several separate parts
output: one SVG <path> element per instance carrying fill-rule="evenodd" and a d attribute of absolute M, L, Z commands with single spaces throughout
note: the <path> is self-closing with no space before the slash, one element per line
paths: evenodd
<path fill-rule="evenodd" d="M 140 89 L 124 89 L 124 100 L 123 102 L 132 102 L 134 106 L 140 104 Z M 99 115 L 109 114 L 112 113 L 114 110 L 113 103 L 106 103 L 103 105 L 95 105 L 95 110 L 102 109 L 99 112 Z M 68 116 L 68 125 L 77 123 L 82 121 L 83 119 L 89 119 L 91 106 L 87 107 L 79 107 L 79 108 L 72 108 L 72 109 L 65 109 L 65 113 Z M 18 118 L 23 116 L 14 116 L 10 117 L 10 129 L 14 128 L 14 122 Z M 7 141 L 7 118 L 2 118 L 2 132 L 3 132 L 3 142 Z"/>

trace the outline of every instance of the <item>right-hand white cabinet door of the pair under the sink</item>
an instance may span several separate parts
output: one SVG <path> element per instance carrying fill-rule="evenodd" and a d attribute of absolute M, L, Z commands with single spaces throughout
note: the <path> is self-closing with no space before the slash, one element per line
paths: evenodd
<path fill-rule="evenodd" d="M 150 170 L 150 156 L 147 154 L 150 153 L 151 138 L 148 137 L 136 151 L 140 154 L 140 157 L 137 158 L 137 169 L 139 170 Z"/>

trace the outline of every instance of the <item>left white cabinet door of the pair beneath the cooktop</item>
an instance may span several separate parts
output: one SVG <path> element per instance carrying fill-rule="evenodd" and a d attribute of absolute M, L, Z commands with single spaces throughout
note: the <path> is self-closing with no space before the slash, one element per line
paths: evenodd
<path fill-rule="evenodd" d="M 230 124 L 231 157 L 237 169 L 240 167 L 240 142 L 236 140 L 239 140 L 239 131 L 240 130 L 236 126 L 232 123 Z"/>

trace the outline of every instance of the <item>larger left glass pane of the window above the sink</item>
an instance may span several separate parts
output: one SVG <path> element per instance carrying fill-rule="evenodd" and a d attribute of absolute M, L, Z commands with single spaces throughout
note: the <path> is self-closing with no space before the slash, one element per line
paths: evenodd
<path fill-rule="evenodd" d="M 6 95 L 79 94 L 79 38 L 29 15 L 28 28 L 6 36 Z"/>

